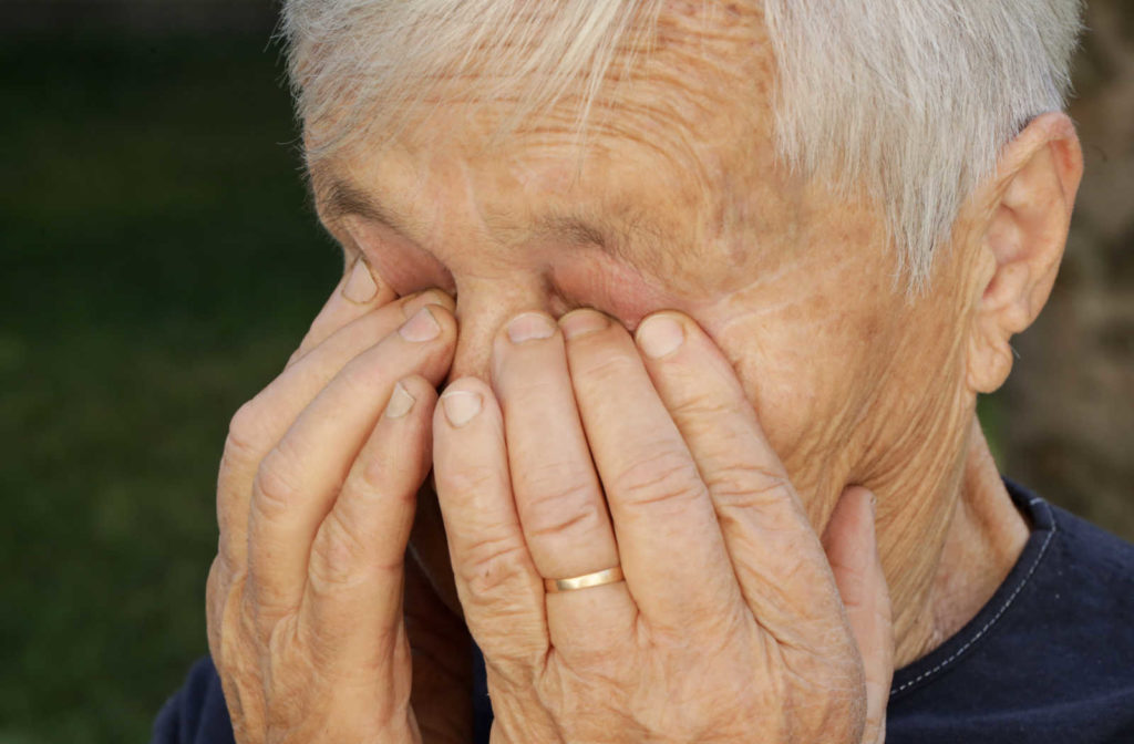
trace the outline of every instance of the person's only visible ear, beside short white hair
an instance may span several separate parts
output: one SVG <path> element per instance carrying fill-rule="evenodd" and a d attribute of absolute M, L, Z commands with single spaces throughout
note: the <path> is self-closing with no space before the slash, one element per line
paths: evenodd
<path fill-rule="evenodd" d="M 1035 320 L 1051 294 L 1083 152 L 1065 113 L 1044 113 L 1001 152 L 996 176 L 974 196 L 985 215 L 976 230 L 978 286 L 967 375 L 974 392 L 992 392 L 1012 371 L 1012 337 Z"/>

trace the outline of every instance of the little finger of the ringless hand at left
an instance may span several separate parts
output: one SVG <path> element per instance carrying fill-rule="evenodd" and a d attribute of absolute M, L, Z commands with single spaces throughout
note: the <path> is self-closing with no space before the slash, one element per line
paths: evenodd
<path fill-rule="evenodd" d="M 398 382 L 319 525 L 311 546 L 301 627 L 329 669 L 388 666 L 401 632 L 406 543 L 417 488 L 432 462 L 437 392 L 424 378 Z"/>

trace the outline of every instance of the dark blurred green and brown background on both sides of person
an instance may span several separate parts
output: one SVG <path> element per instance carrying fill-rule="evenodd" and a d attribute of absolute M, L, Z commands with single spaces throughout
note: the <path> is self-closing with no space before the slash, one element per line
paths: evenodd
<path fill-rule="evenodd" d="M 228 418 L 341 267 L 273 14 L 0 0 L 0 744 L 145 741 L 206 651 Z M 1134 3 L 1089 24 L 1068 256 L 982 417 L 1005 472 L 1134 538 Z"/>

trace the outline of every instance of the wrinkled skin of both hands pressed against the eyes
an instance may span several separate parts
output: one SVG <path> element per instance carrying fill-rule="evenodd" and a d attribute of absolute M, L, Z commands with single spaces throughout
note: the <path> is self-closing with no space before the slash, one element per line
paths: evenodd
<path fill-rule="evenodd" d="M 345 285 L 363 272 L 358 262 Z M 458 661 L 467 657 L 455 653 L 462 628 L 404 560 L 429 464 L 432 387 L 451 353 L 451 304 L 440 293 L 375 304 L 366 312 L 332 296 L 285 372 L 232 421 L 209 619 L 242 742 L 467 741 L 459 703 L 468 680 Z M 498 703 L 493 736 L 741 741 L 759 721 L 776 741 L 878 741 L 892 646 L 872 497 L 848 490 L 824 557 L 727 361 L 692 321 L 672 318 L 688 343 L 676 358 L 652 360 L 651 384 L 629 337 L 604 315 L 564 318 L 574 348 L 584 349 L 570 355 L 550 318 L 522 315 L 510 335 L 533 322 L 543 330 L 526 345 L 500 340 L 494 377 L 523 445 L 506 450 L 499 409 L 457 418 L 460 426 L 451 415 L 434 423 L 457 589 Z M 462 380 L 446 392 L 447 414 L 469 386 L 482 406 L 492 400 L 482 382 Z M 583 405 L 595 392 L 596 405 Z M 652 416 L 626 417 L 627 401 Z M 600 471 L 603 451 L 621 462 L 603 475 L 606 496 L 579 413 Z M 611 416 L 642 431 L 604 424 Z M 611 447 L 632 441 L 627 433 L 641 445 Z M 566 456 L 545 457 L 542 445 L 565 436 L 574 443 Z M 675 456 L 685 462 L 667 463 Z M 514 501 L 507 485 L 509 457 L 530 487 L 525 499 Z M 560 608 L 557 622 L 544 617 L 527 544 L 549 575 L 621 563 L 628 580 L 556 595 L 548 608 Z M 676 563 L 659 560 L 667 555 Z M 559 634 L 555 649 L 549 628 Z"/>

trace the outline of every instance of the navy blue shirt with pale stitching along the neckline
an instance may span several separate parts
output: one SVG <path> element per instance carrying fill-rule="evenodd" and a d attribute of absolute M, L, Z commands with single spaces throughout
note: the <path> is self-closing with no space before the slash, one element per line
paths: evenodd
<path fill-rule="evenodd" d="M 1016 566 L 971 623 L 898 669 L 887 744 L 1134 742 L 1134 546 L 1005 481 L 1031 523 Z M 491 708 L 477 663 L 476 741 Z M 161 709 L 154 744 L 228 744 L 209 659 Z"/>

